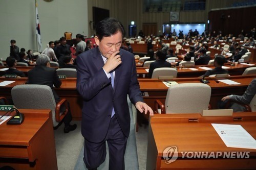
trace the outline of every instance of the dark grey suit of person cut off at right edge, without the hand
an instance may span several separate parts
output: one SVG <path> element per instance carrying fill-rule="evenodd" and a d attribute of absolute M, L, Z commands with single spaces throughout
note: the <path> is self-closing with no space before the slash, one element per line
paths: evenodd
<path fill-rule="evenodd" d="M 251 83 L 248 85 L 243 95 L 232 95 L 230 97 L 230 100 L 248 105 L 250 104 L 255 94 L 256 94 L 256 79 L 253 79 Z M 234 103 L 231 106 L 231 109 L 233 109 L 234 111 L 245 111 L 245 108 L 237 103 Z"/>

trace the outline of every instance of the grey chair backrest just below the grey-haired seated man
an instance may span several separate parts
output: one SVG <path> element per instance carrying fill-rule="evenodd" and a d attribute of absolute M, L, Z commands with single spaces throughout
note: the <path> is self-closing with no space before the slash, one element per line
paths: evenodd
<path fill-rule="evenodd" d="M 13 104 L 17 109 L 50 109 L 53 125 L 55 119 L 55 99 L 51 87 L 47 85 L 25 84 L 16 85 L 11 90 Z"/>

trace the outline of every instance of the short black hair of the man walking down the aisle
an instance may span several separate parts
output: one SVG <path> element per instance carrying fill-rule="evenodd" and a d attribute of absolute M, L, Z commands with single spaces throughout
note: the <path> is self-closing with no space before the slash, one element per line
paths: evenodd
<path fill-rule="evenodd" d="M 99 21 L 95 29 L 96 36 L 99 41 L 101 41 L 103 37 L 109 37 L 118 31 L 120 31 L 122 33 L 122 37 L 124 37 L 125 31 L 122 23 L 114 18 L 105 18 Z"/>

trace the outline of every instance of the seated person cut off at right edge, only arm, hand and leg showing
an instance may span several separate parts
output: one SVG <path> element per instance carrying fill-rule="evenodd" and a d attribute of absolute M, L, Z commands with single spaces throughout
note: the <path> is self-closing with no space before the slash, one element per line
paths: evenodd
<path fill-rule="evenodd" d="M 251 100 L 253 99 L 254 95 L 256 94 L 256 79 L 253 79 L 251 83 L 248 85 L 247 89 L 245 90 L 243 95 L 227 95 L 221 99 L 222 103 L 220 103 L 219 108 L 225 109 L 225 105 L 227 101 L 235 101 L 242 104 L 250 104 Z M 234 112 L 242 112 L 245 111 L 246 108 L 242 105 L 237 103 L 231 103 L 230 109 L 233 109 Z"/>

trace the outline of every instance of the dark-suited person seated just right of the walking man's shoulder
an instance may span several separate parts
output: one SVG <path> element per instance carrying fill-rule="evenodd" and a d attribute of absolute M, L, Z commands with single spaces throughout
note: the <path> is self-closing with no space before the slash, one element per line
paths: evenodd
<path fill-rule="evenodd" d="M 150 70 L 148 71 L 148 78 L 152 78 L 152 74 L 155 68 L 171 67 L 169 62 L 165 61 L 166 53 L 162 50 L 156 53 L 156 61 L 150 64 Z"/>

